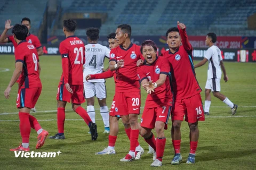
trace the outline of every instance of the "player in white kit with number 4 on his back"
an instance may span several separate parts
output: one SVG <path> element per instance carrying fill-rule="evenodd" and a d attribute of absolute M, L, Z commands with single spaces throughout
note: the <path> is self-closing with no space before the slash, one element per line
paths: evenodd
<path fill-rule="evenodd" d="M 103 72 L 104 59 L 109 58 L 110 49 L 98 44 L 99 29 L 89 28 L 86 31 L 88 43 L 85 46 L 85 64 L 84 64 L 84 92 L 87 102 L 87 113 L 95 123 L 94 96 L 98 98 L 100 105 L 100 114 L 105 126 L 104 133 L 109 133 L 109 112 L 106 104 L 106 86 L 105 79 L 86 81 L 88 74 L 98 74 Z"/>

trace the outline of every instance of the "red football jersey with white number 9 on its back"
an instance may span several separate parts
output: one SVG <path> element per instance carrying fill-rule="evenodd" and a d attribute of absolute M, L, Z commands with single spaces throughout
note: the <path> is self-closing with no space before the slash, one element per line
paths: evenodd
<path fill-rule="evenodd" d="M 36 47 L 26 40 L 20 41 L 14 55 L 16 62 L 23 63 L 19 88 L 42 88 L 38 72 L 39 58 Z"/>

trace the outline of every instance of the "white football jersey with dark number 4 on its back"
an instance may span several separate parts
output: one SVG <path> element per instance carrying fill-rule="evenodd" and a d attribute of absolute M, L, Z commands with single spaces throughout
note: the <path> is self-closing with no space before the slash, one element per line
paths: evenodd
<path fill-rule="evenodd" d="M 102 73 L 105 57 L 109 58 L 110 49 L 100 44 L 85 46 L 84 82 L 86 75 Z M 105 82 L 105 79 L 89 80 L 89 82 Z"/>

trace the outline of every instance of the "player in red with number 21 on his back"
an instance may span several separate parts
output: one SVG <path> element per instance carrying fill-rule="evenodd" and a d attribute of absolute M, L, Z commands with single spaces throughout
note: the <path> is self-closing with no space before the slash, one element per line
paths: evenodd
<path fill-rule="evenodd" d="M 72 103 L 73 110 L 81 116 L 89 126 L 92 140 L 97 140 L 97 125 L 92 122 L 90 116 L 81 106 L 84 103 L 83 94 L 83 64 L 85 63 L 84 43 L 74 35 L 76 22 L 74 20 L 63 21 L 63 32 L 66 39 L 60 43 L 62 61 L 62 75 L 58 86 L 58 133 L 50 139 L 65 139 L 65 107 L 67 102 Z"/>

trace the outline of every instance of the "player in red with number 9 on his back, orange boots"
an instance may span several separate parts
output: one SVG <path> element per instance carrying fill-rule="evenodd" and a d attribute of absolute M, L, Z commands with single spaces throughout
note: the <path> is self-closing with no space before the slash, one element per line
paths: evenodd
<path fill-rule="evenodd" d="M 4 91 L 4 95 L 9 99 L 11 88 L 21 75 L 16 106 L 19 109 L 22 144 L 18 148 L 10 150 L 29 151 L 30 128 L 35 129 L 38 134 L 36 149 L 44 145 L 45 139 L 49 134 L 41 128 L 36 118 L 29 114 L 30 109 L 35 106 L 42 91 L 42 83 L 39 78 L 41 67 L 36 47 L 26 41 L 28 28 L 25 25 L 16 24 L 12 29 L 12 33 L 15 43 L 18 44 L 14 53 L 16 63 L 12 79 Z"/>

